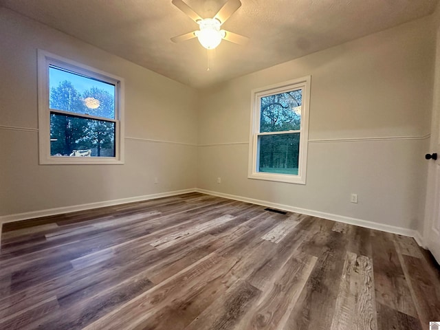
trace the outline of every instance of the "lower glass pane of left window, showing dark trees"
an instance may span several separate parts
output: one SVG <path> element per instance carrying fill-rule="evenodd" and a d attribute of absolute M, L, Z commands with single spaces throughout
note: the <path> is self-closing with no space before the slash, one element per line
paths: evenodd
<path fill-rule="evenodd" d="M 115 123 L 51 113 L 50 155 L 115 157 Z"/>

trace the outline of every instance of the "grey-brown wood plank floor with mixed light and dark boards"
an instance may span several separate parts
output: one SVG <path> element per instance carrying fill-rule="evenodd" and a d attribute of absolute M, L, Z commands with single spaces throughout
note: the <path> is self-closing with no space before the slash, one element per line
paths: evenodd
<path fill-rule="evenodd" d="M 3 225 L 0 329 L 428 329 L 413 239 L 192 193 Z"/>

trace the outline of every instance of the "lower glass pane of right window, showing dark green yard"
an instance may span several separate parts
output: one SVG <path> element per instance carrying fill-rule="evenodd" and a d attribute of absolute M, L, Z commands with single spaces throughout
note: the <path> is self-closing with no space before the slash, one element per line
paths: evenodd
<path fill-rule="evenodd" d="M 298 175 L 300 133 L 259 136 L 258 172 Z"/>

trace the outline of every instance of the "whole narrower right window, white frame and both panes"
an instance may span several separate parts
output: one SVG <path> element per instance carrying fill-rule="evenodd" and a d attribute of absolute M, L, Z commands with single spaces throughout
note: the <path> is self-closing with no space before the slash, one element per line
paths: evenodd
<path fill-rule="evenodd" d="M 310 79 L 252 91 L 250 179 L 305 184 Z"/>

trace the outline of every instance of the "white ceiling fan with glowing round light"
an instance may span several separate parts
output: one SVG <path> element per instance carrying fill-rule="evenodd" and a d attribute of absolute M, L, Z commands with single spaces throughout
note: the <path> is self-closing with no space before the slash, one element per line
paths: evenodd
<path fill-rule="evenodd" d="M 238 43 L 240 45 L 243 45 L 249 40 L 247 36 L 241 36 L 240 34 L 220 30 L 221 25 L 223 25 L 223 23 L 225 23 L 225 21 L 240 8 L 240 0 L 228 0 L 212 19 L 202 19 L 199 14 L 192 10 L 190 6 L 182 0 L 172 0 L 171 3 L 187 14 L 192 21 L 199 24 L 199 30 L 171 38 L 171 41 L 174 43 L 197 38 L 203 47 L 212 50 L 221 43 L 221 39 L 225 39 L 232 43 Z"/>

